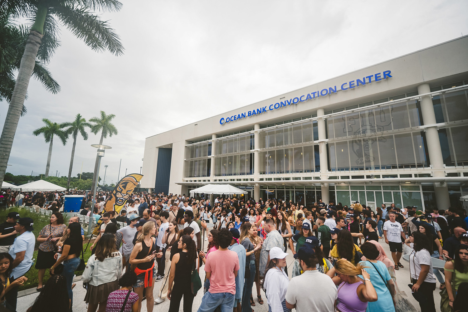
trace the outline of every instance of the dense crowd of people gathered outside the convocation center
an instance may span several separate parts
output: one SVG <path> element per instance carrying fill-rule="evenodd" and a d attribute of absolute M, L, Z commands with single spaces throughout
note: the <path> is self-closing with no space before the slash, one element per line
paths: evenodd
<path fill-rule="evenodd" d="M 399 291 L 395 270 L 404 268 L 403 247 L 409 250 L 411 293 L 421 311 L 436 311 L 437 280 L 441 309 L 465 309 L 468 233 L 462 210 L 382 204 L 373 211 L 359 203 L 348 207 L 319 200 L 304 206 L 242 197 L 211 203 L 201 197 L 137 193 L 118 213 L 103 213 L 107 196 L 96 194 L 94 207 L 92 196 L 84 196 L 80 212 L 93 209 L 102 221 L 81 278 L 88 312 L 135 312 L 143 301 L 152 312 L 166 299 L 169 312 L 179 311 L 181 300 L 189 312 L 197 295 L 203 296 L 198 312 L 251 312 L 264 304 L 263 295 L 272 312 L 391 312 Z M 79 218 L 65 225 L 59 211 L 51 214 L 37 238 L 35 264 L 32 231 L 32 219 L 19 218 L 17 212 L 0 225 L 4 304 L 16 311 L 18 287 L 35 265 L 40 294 L 28 311 L 42 311 L 53 291 L 66 300 L 50 311 L 72 310 L 74 272 L 83 269 L 80 255 L 89 245 L 84 245 Z M 388 244 L 391 257 L 381 244 Z M 288 270 L 289 252 L 294 260 Z M 444 269 L 433 268 L 431 258 L 446 260 Z M 52 277 L 44 285 L 47 269 Z M 161 282 L 155 287 L 156 281 Z M 313 285 L 320 287 L 310 291 Z"/>

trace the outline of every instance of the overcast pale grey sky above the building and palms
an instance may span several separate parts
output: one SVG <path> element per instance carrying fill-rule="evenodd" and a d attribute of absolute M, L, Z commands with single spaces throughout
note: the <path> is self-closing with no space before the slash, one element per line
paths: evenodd
<path fill-rule="evenodd" d="M 106 181 L 139 173 L 145 138 L 359 68 L 468 35 L 468 1 L 123 0 L 102 19 L 123 56 L 96 53 L 63 28 L 49 68 L 62 91 L 31 80 L 7 172 L 45 172 L 42 118 L 115 114 Z M 47 31 L 47 29 L 45 29 Z M 450 62 L 450 60 L 445 60 Z M 7 113 L 0 102 L 0 125 Z M 92 172 L 99 136 L 78 138 L 73 176 Z M 55 140 L 50 175 L 68 174 L 72 139 Z"/>

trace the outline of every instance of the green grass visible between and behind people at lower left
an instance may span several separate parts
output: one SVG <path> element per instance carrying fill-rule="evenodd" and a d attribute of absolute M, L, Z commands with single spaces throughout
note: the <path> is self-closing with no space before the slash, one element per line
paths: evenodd
<path fill-rule="evenodd" d="M 48 216 L 39 216 L 37 213 L 33 213 L 33 212 L 29 212 L 29 210 L 25 210 L 25 209 L 18 209 L 18 208 L 10 208 L 10 209 L 2 209 L 0 210 L 0 220 L 6 220 L 7 219 L 7 214 L 11 211 L 17 211 L 19 214 L 20 214 L 20 217 L 21 218 L 32 218 L 34 220 L 34 236 L 39 236 L 39 232 L 42 230 L 42 228 L 46 225 L 48 225 L 50 223 L 49 221 L 49 217 Z M 66 217 L 64 215 L 64 223 L 65 224 L 68 224 L 68 217 Z M 88 244 L 88 240 L 85 239 L 85 245 L 83 246 L 83 248 L 86 247 L 86 244 Z M 90 244 L 92 245 L 92 244 Z M 34 249 L 34 255 L 33 255 L 33 259 L 34 259 L 34 264 L 32 266 L 32 268 L 28 271 L 28 273 L 25 274 L 25 276 L 28 278 L 28 280 L 22 285 L 20 286 L 19 290 L 25 290 L 25 289 L 29 289 L 29 288 L 33 288 L 33 287 L 37 287 L 37 284 L 38 284 L 38 277 L 37 277 L 37 268 L 34 267 L 34 265 L 36 264 L 36 259 L 37 259 L 37 248 L 39 247 L 39 243 L 36 241 L 36 246 L 35 246 L 35 249 Z M 88 261 L 88 258 L 91 256 L 91 251 L 89 250 L 89 247 L 88 247 L 88 250 L 85 251 L 84 253 L 84 257 L 85 257 L 85 262 Z M 81 274 L 83 274 L 83 271 L 76 271 L 75 274 L 77 276 L 80 276 Z M 45 284 L 47 282 L 47 280 L 49 279 L 50 277 L 50 274 L 49 274 L 49 269 L 47 269 L 45 271 L 45 275 L 44 275 L 44 281 L 43 281 L 43 284 Z"/>

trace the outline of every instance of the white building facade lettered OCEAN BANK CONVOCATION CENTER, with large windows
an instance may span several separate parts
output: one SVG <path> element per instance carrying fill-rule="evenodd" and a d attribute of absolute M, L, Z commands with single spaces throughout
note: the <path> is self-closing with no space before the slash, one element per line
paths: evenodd
<path fill-rule="evenodd" d="M 361 79 L 365 80 L 365 85 L 358 81 Z M 353 87 L 353 83 L 358 86 Z M 468 192 L 465 184 L 468 181 L 468 159 L 464 159 L 465 150 L 459 150 L 457 144 L 459 140 L 463 140 L 460 130 L 468 129 L 468 117 L 465 118 L 465 113 L 468 116 L 468 107 L 465 105 L 465 102 L 468 102 L 467 89 L 468 36 L 463 36 L 148 137 L 145 143 L 142 170 L 144 177 L 141 187 L 154 188 L 158 148 L 170 147 L 172 159 L 168 189 L 175 194 L 188 194 L 189 189 L 214 182 L 245 187 L 256 199 L 269 196 L 269 192 L 265 190 L 274 187 L 275 191 L 271 196 L 280 197 L 285 194 L 286 199 L 296 202 L 299 201 L 298 198 L 304 201 L 307 196 L 309 202 L 312 198 L 317 201 L 319 197 L 325 202 L 331 196 L 336 197 L 336 201 L 340 198 L 359 199 L 361 202 L 371 203 L 372 206 L 380 206 L 379 196 L 382 197 L 381 201 L 386 202 L 390 199 L 397 201 L 400 196 L 402 206 L 417 203 L 417 198 L 420 197 L 422 203 L 419 205 L 424 205 L 428 200 L 439 209 L 448 208 L 449 192 Z M 322 95 L 317 95 L 320 92 Z M 306 99 L 308 100 L 305 101 Z M 387 101 L 384 101 L 385 99 Z M 290 101 L 291 104 L 276 109 L 276 106 L 280 106 L 282 102 L 286 103 L 285 101 Z M 396 115 L 401 107 L 406 109 L 403 112 L 405 115 Z M 262 113 L 248 116 L 249 111 L 257 112 L 257 109 L 262 108 Z M 443 118 L 437 109 L 444 111 Z M 461 114 L 453 114 L 457 109 Z M 245 117 L 242 117 L 242 113 Z M 352 114 L 360 114 L 361 117 L 356 119 Z M 231 116 L 242 118 L 226 122 Z M 384 126 L 378 124 L 381 122 L 377 121 L 379 116 L 380 119 L 387 118 L 392 123 Z M 403 119 L 409 118 L 408 126 L 394 125 L 395 120 L 401 119 L 401 116 Z M 222 118 L 224 119 L 221 120 Z M 372 138 L 369 138 L 363 129 L 364 123 L 371 119 L 373 121 L 366 125 L 367 128 L 373 129 L 366 130 L 373 131 Z M 361 124 L 358 130 L 360 132 L 356 132 L 356 128 L 351 125 L 356 122 Z M 306 140 L 306 123 L 311 123 L 314 139 Z M 349 126 L 346 123 L 349 123 Z M 203 127 L 199 126 L 201 124 Z M 340 130 L 340 125 L 345 129 Z M 292 139 L 292 129 L 296 129 L 294 127 L 303 131 L 297 141 L 296 137 Z M 268 141 L 268 131 L 275 129 L 276 137 L 273 134 L 272 138 L 273 141 L 276 138 L 276 143 Z M 310 129 L 307 131 L 312 133 Z M 338 133 L 340 131 L 344 133 Z M 335 133 L 335 137 L 332 132 Z M 280 141 L 278 133 L 281 136 Z M 253 148 L 244 148 L 244 144 L 249 144 L 249 138 L 244 138 L 250 134 L 253 135 L 250 143 Z M 287 136 L 290 137 L 286 138 Z M 284 142 L 289 140 L 288 143 L 283 144 L 283 138 Z M 446 146 L 445 139 L 441 142 L 439 138 L 447 138 L 450 146 Z M 223 144 L 230 139 L 234 140 L 235 147 L 234 150 L 227 151 Z M 392 148 L 389 147 L 391 142 L 395 142 Z M 408 145 L 408 151 L 404 151 L 409 153 L 409 157 L 402 154 L 402 142 L 412 142 L 410 144 L 414 145 Z M 206 148 L 207 144 L 211 147 L 211 154 L 193 154 L 193 148 L 202 145 Z M 227 144 L 230 143 L 226 143 L 226 146 Z M 317 149 L 314 160 L 311 154 L 307 155 L 310 164 L 314 166 L 306 169 L 306 155 L 303 156 L 302 151 L 304 154 L 306 151 L 314 151 L 315 145 Z M 349 162 L 342 165 L 340 160 L 344 158 L 338 154 L 339 151 L 346 153 L 345 149 L 348 147 L 343 148 L 344 145 L 349 145 Z M 298 152 L 299 149 L 301 151 L 299 160 L 292 156 L 293 152 L 296 155 L 296 148 Z M 368 149 L 366 152 L 363 151 L 365 148 Z M 391 151 L 394 148 L 400 152 Z M 275 160 L 268 160 L 271 156 L 275 159 L 275 152 L 277 156 L 281 154 L 282 159 L 276 161 L 276 167 Z M 391 153 L 395 153 L 395 160 L 388 160 L 387 154 Z M 414 160 L 406 161 L 406 158 L 410 159 L 413 154 Z M 225 160 L 233 160 L 237 171 L 235 168 L 234 171 L 232 168 L 231 171 L 226 169 L 229 165 Z M 253 164 L 247 165 L 251 160 Z M 317 162 L 313 164 L 315 160 Z M 378 162 L 378 165 L 374 162 Z M 269 169 L 271 164 L 275 169 Z M 250 172 L 247 166 L 251 167 Z M 369 187 L 370 184 L 373 186 Z M 353 187 L 363 185 L 367 187 Z M 387 187 L 378 190 L 375 189 L 375 185 Z M 423 188 L 423 185 L 429 186 L 429 189 Z M 396 186 L 398 190 L 395 189 Z M 417 192 L 409 186 L 419 187 L 419 195 L 408 193 Z M 345 194 L 345 187 L 348 187 L 349 196 Z M 310 193 L 312 190 L 314 195 Z M 362 195 L 360 192 L 368 193 Z M 388 193 L 391 193 L 390 197 Z M 434 193 L 434 196 L 429 193 Z M 432 197 L 426 198 L 427 196 Z M 427 204 L 425 205 L 427 207 Z"/>

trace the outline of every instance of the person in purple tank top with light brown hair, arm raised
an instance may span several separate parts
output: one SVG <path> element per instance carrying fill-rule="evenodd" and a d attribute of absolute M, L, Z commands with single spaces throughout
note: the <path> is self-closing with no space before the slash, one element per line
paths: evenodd
<path fill-rule="evenodd" d="M 366 272 L 362 263 L 356 267 L 346 259 L 336 261 L 334 268 L 327 272 L 338 285 L 338 305 L 336 311 L 339 312 L 365 312 L 368 302 L 377 301 L 375 291 L 369 273 Z M 337 276 L 334 276 L 336 273 Z M 358 277 L 361 274 L 364 280 Z"/>

